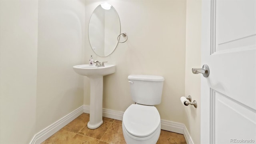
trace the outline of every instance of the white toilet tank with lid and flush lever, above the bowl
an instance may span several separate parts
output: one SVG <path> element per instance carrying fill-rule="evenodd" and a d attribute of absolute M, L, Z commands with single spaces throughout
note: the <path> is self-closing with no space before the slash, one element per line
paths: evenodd
<path fill-rule="evenodd" d="M 129 75 L 132 100 L 138 104 L 161 103 L 164 77 L 150 75 Z"/>

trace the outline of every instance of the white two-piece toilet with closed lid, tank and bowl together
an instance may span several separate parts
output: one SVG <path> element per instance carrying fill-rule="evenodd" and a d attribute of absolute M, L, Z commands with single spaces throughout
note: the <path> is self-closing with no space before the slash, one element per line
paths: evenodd
<path fill-rule="evenodd" d="M 160 115 L 154 105 L 161 103 L 164 77 L 130 75 L 132 100 L 124 112 L 122 130 L 127 144 L 156 144 L 161 131 Z"/>

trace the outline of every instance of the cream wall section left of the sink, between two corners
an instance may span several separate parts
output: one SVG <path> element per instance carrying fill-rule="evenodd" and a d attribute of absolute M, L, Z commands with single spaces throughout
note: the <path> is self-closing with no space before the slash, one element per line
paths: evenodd
<path fill-rule="evenodd" d="M 36 132 L 83 105 L 84 2 L 39 0 Z"/>

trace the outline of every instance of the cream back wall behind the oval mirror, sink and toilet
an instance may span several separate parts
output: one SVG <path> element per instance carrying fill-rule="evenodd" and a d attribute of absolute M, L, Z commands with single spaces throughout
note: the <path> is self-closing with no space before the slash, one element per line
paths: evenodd
<path fill-rule="evenodd" d="M 103 1 L 86 0 L 85 27 Z M 134 103 L 128 75 L 164 76 L 162 102 L 157 105 L 161 119 L 184 123 L 180 97 L 185 92 L 186 1 L 185 0 L 107 0 L 119 14 L 121 32 L 128 34 L 108 57 L 99 57 L 85 37 L 84 64 L 94 60 L 116 64 L 116 73 L 104 77 L 103 108 L 124 112 Z M 84 78 L 84 104 L 90 105 L 90 85 Z"/>

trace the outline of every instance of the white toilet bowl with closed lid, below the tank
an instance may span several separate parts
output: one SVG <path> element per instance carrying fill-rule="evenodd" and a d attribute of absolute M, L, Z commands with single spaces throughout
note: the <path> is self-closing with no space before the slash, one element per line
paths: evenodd
<path fill-rule="evenodd" d="M 127 144 L 156 144 L 161 130 L 158 110 L 154 106 L 130 105 L 124 112 L 122 130 Z"/>

